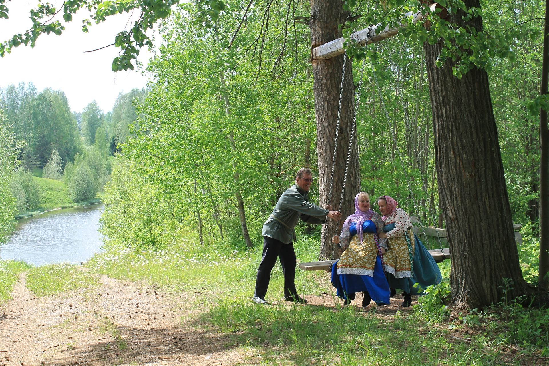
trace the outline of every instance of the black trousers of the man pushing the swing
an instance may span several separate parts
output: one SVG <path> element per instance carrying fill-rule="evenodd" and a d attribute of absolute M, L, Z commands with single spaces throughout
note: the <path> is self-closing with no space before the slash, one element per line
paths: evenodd
<path fill-rule="evenodd" d="M 276 258 L 280 258 L 282 264 L 282 273 L 284 274 L 284 297 L 298 297 L 295 290 L 295 252 L 294 245 L 284 244 L 282 241 L 263 237 L 263 255 L 261 263 L 257 269 L 257 279 L 255 281 L 254 296 L 263 297 L 267 294 L 271 271 L 276 264 Z"/>

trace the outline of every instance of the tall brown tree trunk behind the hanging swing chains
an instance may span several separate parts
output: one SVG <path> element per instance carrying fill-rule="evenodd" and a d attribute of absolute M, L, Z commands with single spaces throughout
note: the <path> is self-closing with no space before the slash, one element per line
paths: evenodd
<path fill-rule="evenodd" d="M 342 5 L 343 3 L 339 0 L 311 0 L 310 27 L 313 48 L 341 37 L 339 25 L 344 24 L 349 15 L 348 12 L 344 12 Z M 313 59 L 312 70 L 314 76 L 313 93 L 315 96 L 320 206 L 324 207 L 331 204 L 334 210 L 341 211 L 343 217 L 347 217 L 355 211 L 354 197 L 360 190 L 360 166 L 358 165 L 355 134 L 345 182 L 345 196 L 341 207 L 339 207 L 354 115 L 354 85 L 352 65 L 349 59 L 347 59 L 345 65 L 332 198 L 329 197 L 343 61 L 344 55 L 327 60 Z M 332 255 L 336 254 L 333 250 L 331 238 L 332 235 L 339 234 L 339 232 L 340 223 L 327 219 L 326 224 L 322 227 L 319 256 L 321 260 L 332 258 Z"/>

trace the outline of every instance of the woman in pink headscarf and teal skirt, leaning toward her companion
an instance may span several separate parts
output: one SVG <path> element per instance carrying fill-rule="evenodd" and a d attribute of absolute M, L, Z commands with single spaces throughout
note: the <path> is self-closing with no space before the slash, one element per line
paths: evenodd
<path fill-rule="evenodd" d="M 404 291 L 402 306 L 410 306 L 412 294 L 423 295 L 427 286 L 440 283 L 442 275 L 429 251 L 412 232 L 410 216 L 397 208 L 398 203 L 391 196 L 378 197 L 377 204 L 384 222 L 384 233 L 379 235 L 388 239 L 384 256 L 387 280 L 391 289 Z"/>

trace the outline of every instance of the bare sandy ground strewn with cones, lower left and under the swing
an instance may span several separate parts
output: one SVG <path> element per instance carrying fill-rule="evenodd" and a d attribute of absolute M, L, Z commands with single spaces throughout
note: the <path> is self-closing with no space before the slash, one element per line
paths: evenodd
<path fill-rule="evenodd" d="M 234 336 L 201 324 L 203 310 L 193 306 L 188 294 L 105 276 L 100 281 L 93 292 L 36 298 L 22 274 L 13 300 L 0 307 L 0 366 L 261 363 L 260 351 L 234 344 Z M 299 306 L 335 306 L 332 295 L 306 299 L 309 303 Z M 353 301 L 356 306 L 361 302 L 360 296 Z M 392 317 L 410 309 L 401 303 L 398 297 L 391 299 L 377 314 Z"/>

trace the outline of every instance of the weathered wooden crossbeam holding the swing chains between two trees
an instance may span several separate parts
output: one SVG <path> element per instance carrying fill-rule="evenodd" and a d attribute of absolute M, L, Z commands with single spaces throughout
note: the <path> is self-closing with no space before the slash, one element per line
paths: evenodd
<path fill-rule="evenodd" d="M 409 18 L 410 15 L 413 15 L 413 24 L 416 24 L 418 21 L 423 19 L 423 15 L 421 12 L 417 12 L 416 14 L 413 14 L 412 12 L 408 12 L 404 14 L 404 18 Z M 366 46 L 367 44 L 373 43 L 373 42 L 379 42 L 382 40 L 385 40 L 385 38 L 389 38 L 391 36 L 396 35 L 400 29 L 405 28 L 408 26 L 408 24 L 404 23 L 401 24 L 398 23 L 399 26 L 396 28 L 389 28 L 388 26 L 385 27 L 384 30 L 380 31 L 379 34 L 376 34 L 376 30 L 379 28 L 380 24 L 373 25 L 371 27 L 368 27 L 367 29 L 363 29 L 361 31 L 357 31 L 352 35 L 352 39 L 356 40 L 360 46 Z M 318 47 L 315 47 L 312 49 L 312 59 L 313 60 L 326 60 L 330 59 L 332 57 L 342 55 L 345 53 L 345 50 L 343 49 L 343 42 L 345 41 L 345 38 L 341 37 L 337 40 L 330 41 L 328 43 L 321 44 Z"/>

